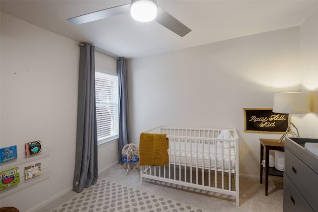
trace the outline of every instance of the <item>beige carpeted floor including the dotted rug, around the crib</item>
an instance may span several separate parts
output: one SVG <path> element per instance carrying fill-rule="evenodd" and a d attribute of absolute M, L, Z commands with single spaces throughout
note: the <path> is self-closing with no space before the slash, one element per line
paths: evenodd
<path fill-rule="evenodd" d="M 139 170 L 116 165 L 100 174 L 97 184 L 70 192 L 34 212 L 282 212 L 283 178 L 270 177 L 268 196 L 259 179 L 239 179 L 239 203 L 228 195 L 147 180 Z M 264 180 L 265 181 L 265 180 Z M 110 190 L 109 190 L 110 189 Z"/>

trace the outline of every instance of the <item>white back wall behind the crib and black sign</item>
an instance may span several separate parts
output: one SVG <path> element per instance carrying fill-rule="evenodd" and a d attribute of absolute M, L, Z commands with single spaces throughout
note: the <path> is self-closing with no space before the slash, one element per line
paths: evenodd
<path fill-rule="evenodd" d="M 259 176 L 259 138 L 243 108 L 271 108 L 274 92 L 300 90 L 299 27 L 129 61 L 133 142 L 158 125 L 236 127 L 240 174 Z"/>

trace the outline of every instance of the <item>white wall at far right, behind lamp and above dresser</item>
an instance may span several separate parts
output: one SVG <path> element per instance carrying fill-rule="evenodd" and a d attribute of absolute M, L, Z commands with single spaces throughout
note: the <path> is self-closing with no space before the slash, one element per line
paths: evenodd
<path fill-rule="evenodd" d="M 300 52 L 303 90 L 314 97 L 314 113 L 304 116 L 301 136 L 318 138 L 318 9 L 300 27 Z"/>

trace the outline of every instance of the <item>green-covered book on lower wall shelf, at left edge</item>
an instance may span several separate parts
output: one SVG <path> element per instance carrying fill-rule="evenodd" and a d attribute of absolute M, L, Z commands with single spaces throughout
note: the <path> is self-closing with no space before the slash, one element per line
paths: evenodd
<path fill-rule="evenodd" d="M 0 172 L 0 191 L 19 184 L 19 167 L 14 167 Z"/>

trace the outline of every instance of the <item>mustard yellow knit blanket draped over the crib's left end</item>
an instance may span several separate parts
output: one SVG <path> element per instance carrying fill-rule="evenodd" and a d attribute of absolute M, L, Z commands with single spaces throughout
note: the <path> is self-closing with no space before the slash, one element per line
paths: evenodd
<path fill-rule="evenodd" d="M 142 133 L 139 141 L 139 164 L 162 166 L 169 162 L 166 134 Z"/>

